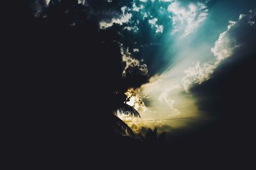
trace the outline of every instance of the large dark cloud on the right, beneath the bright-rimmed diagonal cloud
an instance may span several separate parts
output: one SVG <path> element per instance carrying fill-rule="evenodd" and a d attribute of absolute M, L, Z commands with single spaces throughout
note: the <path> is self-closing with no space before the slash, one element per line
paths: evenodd
<path fill-rule="evenodd" d="M 226 36 L 239 45 L 231 57 L 223 62 L 210 80 L 193 87 L 200 110 L 217 122 L 208 126 L 212 138 L 221 138 L 221 145 L 251 140 L 255 110 L 256 25 L 255 10 L 240 15 L 236 25 Z M 225 47 L 223 45 L 223 47 Z M 211 128 L 209 128 L 211 127 Z M 207 131 L 208 131 L 207 130 Z M 249 144 L 249 143 L 248 143 Z"/>

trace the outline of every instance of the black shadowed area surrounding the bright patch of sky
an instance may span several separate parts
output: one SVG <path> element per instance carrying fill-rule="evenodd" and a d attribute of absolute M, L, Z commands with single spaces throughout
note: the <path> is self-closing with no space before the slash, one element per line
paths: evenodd
<path fill-rule="evenodd" d="M 191 131 L 177 129 L 168 134 L 168 142 L 166 133 L 159 135 L 157 129 L 142 129 L 143 136 L 135 139 L 113 132 L 113 110 L 124 104 L 129 87 L 140 87 L 150 77 L 135 67 L 123 78 L 118 41 L 129 32 L 120 36 L 115 26 L 99 29 L 99 18 L 109 20 L 108 15 L 121 13 L 120 7 L 131 5 L 129 1 L 113 0 L 116 5 L 111 6 L 106 1 L 87 1 L 90 6 L 75 0 L 51 1 L 47 10 L 42 2 L 20 5 L 4 36 L 4 100 L 10 104 L 6 114 L 12 115 L 12 124 L 5 129 L 17 134 L 11 145 L 18 158 L 61 162 L 89 156 L 99 164 L 101 159 L 124 164 L 134 159 L 147 166 L 153 159 L 170 167 L 176 160 L 233 166 L 245 156 L 248 162 L 254 159 L 248 155 L 255 153 L 255 34 L 240 34 L 239 42 L 246 46 L 221 64 L 211 79 L 191 89 L 200 110 L 214 117 L 211 122 L 195 124 Z M 147 38 L 138 36 L 138 41 Z M 150 49 L 143 48 L 148 53 Z M 148 60 L 150 67 L 154 59 Z M 163 63 L 160 59 L 156 65 Z M 153 65 L 150 76 L 156 73 Z"/>

